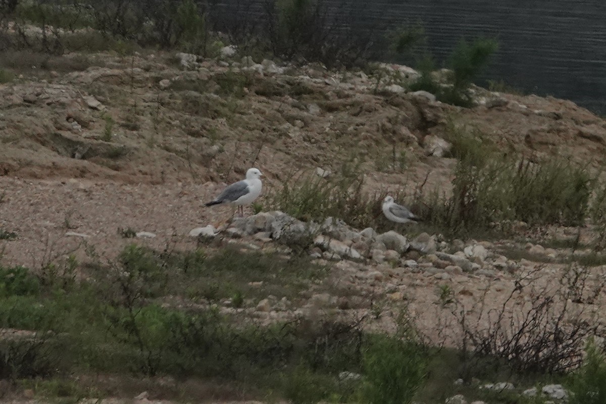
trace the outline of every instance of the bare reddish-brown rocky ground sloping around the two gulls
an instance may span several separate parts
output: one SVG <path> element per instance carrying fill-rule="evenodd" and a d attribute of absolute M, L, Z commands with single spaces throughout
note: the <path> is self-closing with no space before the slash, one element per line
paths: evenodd
<path fill-rule="evenodd" d="M 550 228 L 542 237 L 521 228 L 516 239 L 447 240 L 414 225 L 378 232 L 269 211 L 231 220 L 229 207 L 203 208 L 253 165 L 265 174 L 264 193 L 296 170 L 339 173 L 354 161 L 368 191 L 426 177 L 447 191 L 453 125 L 478 131 L 505 154 L 599 167 L 606 122 L 568 101 L 475 88 L 476 107 L 452 107 L 406 93 L 395 78 L 417 73 L 392 65 L 378 67 L 381 74 L 333 72 L 255 64 L 245 55 L 159 54 L 68 55 L 53 63 L 24 66 L 0 84 L 0 230 L 15 234 L 0 240 L 5 265 L 42 268 L 72 253 L 85 261 L 90 246 L 113 259 L 133 242 L 119 231 L 127 228 L 156 250 L 219 242 L 291 254 L 304 244 L 330 268 L 304 298 L 261 296 L 243 308 L 226 300 L 221 310 L 259 322 L 367 316 L 368 328 L 390 331 L 407 306 L 428 339 L 456 346 L 454 301 L 485 322 L 517 291 L 508 310 L 521 310 L 536 288 L 559 288 L 554 280 L 571 256 L 562 242 L 580 234 L 584 245 L 594 236 L 588 227 Z M 599 285 L 604 268 L 594 266 L 588 282 Z M 519 289 L 528 273 L 536 282 Z M 593 320 L 606 300 L 574 305 Z"/>

